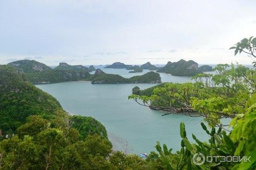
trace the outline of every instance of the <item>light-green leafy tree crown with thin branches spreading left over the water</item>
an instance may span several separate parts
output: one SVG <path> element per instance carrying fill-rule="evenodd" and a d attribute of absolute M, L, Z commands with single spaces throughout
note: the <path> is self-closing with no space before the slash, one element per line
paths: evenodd
<path fill-rule="evenodd" d="M 141 91 L 140 96 L 131 95 L 129 99 L 141 100 L 142 105 L 169 113 L 204 116 L 210 125 L 220 125 L 221 118 L 234 118 L 244 113 L 245 103 L 255 92 L 254 71 L 233 64 L 217 65 L 214 71 L 215 75 L 192 77 L 194 83 L 160 84 Z"/>

